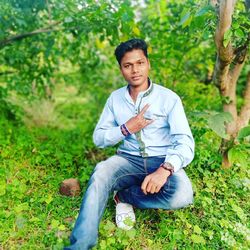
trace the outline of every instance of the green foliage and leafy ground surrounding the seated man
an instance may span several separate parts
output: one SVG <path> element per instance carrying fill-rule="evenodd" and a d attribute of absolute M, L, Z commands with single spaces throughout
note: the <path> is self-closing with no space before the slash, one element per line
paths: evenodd
<path fill-rule="evenodd" d="M 110 200 L 96 248 L 249 249 L 249 138 L 231 150 L 233 167 L 222 169 L 224 124 L 211 120 L 223 101 L 211 83 L 217 20 L 207 2 L 0 3 L 1 249 L 68 244 L 81 196 L 63 197 L 58 187 L 75 177 L 83 195 L 95 164 L 115 152 L 97 149 L 92 132 L 108 95 L 125 84 L 113 51 L 130 37 L 148 42 L 153 81 L 183 100 L 196 141 L 186 169 L 195 200 L 178 211 L 136 210 L 129 232 L 115 227 Z M 247 32 L 242 6 L 238 1 L 238 39 Z"/>

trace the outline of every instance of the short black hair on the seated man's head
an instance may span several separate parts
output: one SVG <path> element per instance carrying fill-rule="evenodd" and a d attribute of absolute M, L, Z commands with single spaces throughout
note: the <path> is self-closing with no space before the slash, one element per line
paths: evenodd
<path fill-rule="evenodd" d="M 133 38 L 126 42 L 120 43 L 115 49 L 115 57 L 119 65 L 126 52 L 132 51 L 133 49 L 141 49 L 144 55 L 148 58 L 147 44 L 144 40 Z"/>

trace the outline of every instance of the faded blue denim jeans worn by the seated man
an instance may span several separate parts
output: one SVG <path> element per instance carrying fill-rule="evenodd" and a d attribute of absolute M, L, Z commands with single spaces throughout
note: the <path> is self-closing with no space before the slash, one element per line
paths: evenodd
<path fill-rule="evenodd" d="M 122 202 L 137 208 L 178 209 L 193 202 L 192 185 L 183 169 L 170 176 L 159 193 L 145 195 L 144 178 L 154 172 L 165 157 L 133 156 L 119 152 L 98 163 L 89 180 L 80 212 L 65 250 L 90 249 L 97 243 L 98 227 L 110 193 L 118 191 Z"/>

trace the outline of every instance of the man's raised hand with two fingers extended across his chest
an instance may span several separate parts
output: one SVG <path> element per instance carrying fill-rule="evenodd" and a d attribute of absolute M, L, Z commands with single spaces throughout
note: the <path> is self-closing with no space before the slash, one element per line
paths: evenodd
<path fill-rule="evenodd" d="M 149 104 L 146 104 L 138 115 L 132 117 L 125 123 L 126 127 L 128 128 L 131 134 L 140 131 L 141 129 L 145 128 L 154 121 L 148 119 L 146 120 L 143 116 L 148 108 Z"/>

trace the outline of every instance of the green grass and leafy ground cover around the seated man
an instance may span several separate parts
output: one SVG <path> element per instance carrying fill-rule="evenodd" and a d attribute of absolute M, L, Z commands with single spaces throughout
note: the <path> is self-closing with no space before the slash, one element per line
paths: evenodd
<path fill-rule="evenodd" d="M 72 89 L 68 95 L 61 93 L 55 99 L 54 126 L 27 128 L 0 120 L 0 249 L 67 245 L 95 164 L 114 153 L 92 143 L 100 107 L 86 101 L 88 95 L 74 97 Z M 68 96 L 70 102 L 63 101 Z M 194 204 L 176 211 L 136 209 L 135 228 L 126 232 L 114 224 L 110 199 L 96 249 L 250 248 L 249 164 L 221 169 L 219 138 L 198 120 L 191 125 L 196 157 L 186 170 L 195 190 Z M 79 197 L 58 192 L 61 181 L 71 177 L 81 182 Z"/>

